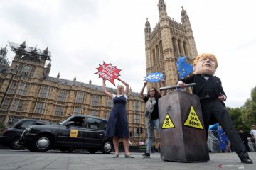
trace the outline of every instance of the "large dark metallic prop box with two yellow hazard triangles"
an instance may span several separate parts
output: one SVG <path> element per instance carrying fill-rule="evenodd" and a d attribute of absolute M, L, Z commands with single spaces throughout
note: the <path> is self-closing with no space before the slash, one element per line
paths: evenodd
<path fill-rule="evenodd" d="M 159 98 L 161 159 L 174 162 L 209 160 L 198 96 L 174 91 Z"/>

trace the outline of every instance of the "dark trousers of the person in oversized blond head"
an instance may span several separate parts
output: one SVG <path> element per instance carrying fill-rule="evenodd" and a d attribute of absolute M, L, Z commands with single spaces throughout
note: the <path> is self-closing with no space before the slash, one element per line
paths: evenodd
<path fill-rule="evenodd" d="M 212 101 L 201 102 L 201 108 L 206 137 L 208 136 L 210 122 L 215 119 L 223 128 L 228 140 L 230 140 L 230 143 L 233 146 L 234 151 L 238 154 L 238 157 L 240 159 L 248 157 L 245 145 L 238 135 L 238 132 L 235 130 L 233 121 L 231 120 L 228 110 L 224 104 L 221 101 L 218 101 L 218 99 L 214 99 Z"/>

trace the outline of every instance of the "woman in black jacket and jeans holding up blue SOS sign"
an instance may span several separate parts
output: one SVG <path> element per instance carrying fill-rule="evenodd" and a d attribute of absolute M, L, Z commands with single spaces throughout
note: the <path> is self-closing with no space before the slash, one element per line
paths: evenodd
<path fill-rule="evenodd" d="M 165 95 L 165 91 L 162 91 L 162 94 L 156 90 L 156 88 L 151 87 L 147 92 L 147 96 L 144 96 L 143 92 L 146 87 L 147 82 L 144 82 L 144 86 L 142 87 L 142 91 L 140 95 L 142 96 L 143 101 L 146 103 L 145 106 L 145 117 L 146 117 L 146 129 L 148 132 L 147 142 L 146 142 L 146 152 L 142 155 L 144 158 L 150 158 L 151 145 L 154 137 L 154 127 L 156 126 L 156 130 L 160 132 L 159 125 L 159 110 L 158 110 L 158 100 L 161 96 Z M 165 81 L 162 80 L 162 84 L 165 86 Z"/>

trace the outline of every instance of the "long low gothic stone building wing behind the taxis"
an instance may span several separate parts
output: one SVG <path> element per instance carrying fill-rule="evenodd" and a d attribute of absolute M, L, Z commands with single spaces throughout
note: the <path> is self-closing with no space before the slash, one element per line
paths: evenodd
<path fill-rule="evenodd" d="M 49 77 L 50 52 L 9 42 L 15 52 L 9 69 L 0 69 L 0 123 L 8 125 L 23 118 L 60 122 L 70 114 L 108 118 L 112 98 L 102 93 L 102 86 Z M 48 62 L 48 64 L 46 64 Z M 116 89 L 107 88 L 115 94 Z M 129 131 L 137 137 L 137 127 L 145 128 L 144 102 L 130 91 L 127 102 Z M 144 129 L 144 132 L 146 130 Z M 142 135 L 146 137 L 146 135 Z"/>

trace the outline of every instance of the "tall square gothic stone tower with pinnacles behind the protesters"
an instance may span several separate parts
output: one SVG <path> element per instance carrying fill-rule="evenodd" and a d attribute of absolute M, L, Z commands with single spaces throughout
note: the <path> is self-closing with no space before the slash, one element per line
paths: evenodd
<path fill-rule="evenodd" d="M 187 62 L 191 63 L 198 55 L 196 43 L 193 37 L 191 23 L 188 14 L 182 7 L 181 23 L 169 18 L 164 0 L 159 0 L 159 23 L 151 30 L 150 23 L 146 19 L 145 51 L 146 51 L 146 74 L 161 72 L 166 77 L 166 86 L 178 82 L 176 61 L 179 56 L 186 56 Z M 149 84 L 148 87 L 159 88 L 161 84 Z"/>

